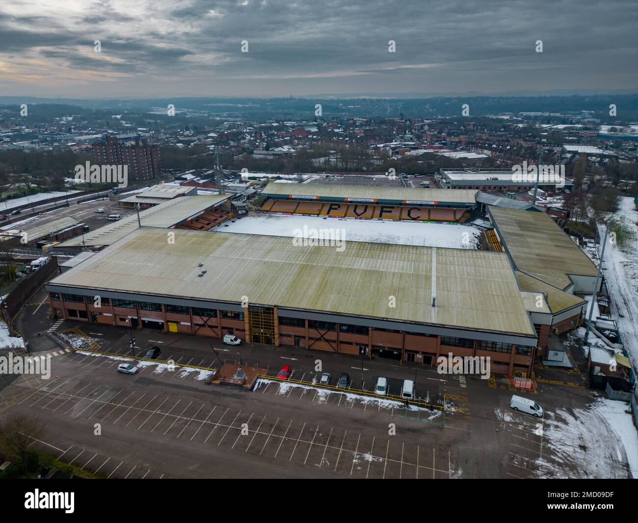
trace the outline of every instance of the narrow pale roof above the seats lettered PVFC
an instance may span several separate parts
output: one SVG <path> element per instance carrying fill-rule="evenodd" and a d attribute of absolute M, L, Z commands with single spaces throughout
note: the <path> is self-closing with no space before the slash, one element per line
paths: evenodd
<path fill-rule="evenodd" d="M 325 198 L 364 198 L 372 200 L 440 201 L 475 204 L 477 190 L 470 189 L 422 189 L 410 187 L 371 187 L 337 183 L 274 183 L 262 191 L 262 195 L 301 195 Z"/>

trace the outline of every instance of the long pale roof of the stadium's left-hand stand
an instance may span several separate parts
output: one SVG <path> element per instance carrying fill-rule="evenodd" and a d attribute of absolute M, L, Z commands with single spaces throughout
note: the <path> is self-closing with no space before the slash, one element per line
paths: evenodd
<path fill-rule="evenodd" d="M 167 229 L 173 225 L 185 222 L 193 218 L 198 213 L 211 208 L 219 202 L 225 201 L 230 194 L 216 194 L 211 196 L 189 196 L 175 198 L 140 211 L 140 222 L 147 227 L 163 227 Z M 137 213 L 131 213 L 117 222 L 109 222 L 108 225 L 100 227 L 95 231 L 85 232 L 84 238 L 78 236 L 69 239 L 56 246 L 56 248 L 76 247 L 85 245 L 87 247 L 97 245 L 112 245 L 117 240 L 124 238 L 127 234 L 138 228 Z"/>

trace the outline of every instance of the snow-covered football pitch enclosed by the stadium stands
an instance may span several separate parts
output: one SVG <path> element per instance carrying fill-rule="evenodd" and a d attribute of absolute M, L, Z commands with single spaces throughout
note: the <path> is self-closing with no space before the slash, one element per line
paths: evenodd
<path fill-rule="evenodd" d="M 479 236 L 477 229 L 467 225 L 355 220 L 353 218 L 327 218 L 324 220 L 320 216 L 251 215 L 236 220 L 235 223 L 227 222 L 227 225 L 228 227 L 221 225 L 215 230 L 242 234 L 265 234 L 267 236 L 330 238 L 328 235 L 316 236 L 318 232 L 313 231 L 343 229 L 344 232 L 339 232 L 341 234 L 339 239 L 346 241 L 459 249 L 475 249 Z"/>

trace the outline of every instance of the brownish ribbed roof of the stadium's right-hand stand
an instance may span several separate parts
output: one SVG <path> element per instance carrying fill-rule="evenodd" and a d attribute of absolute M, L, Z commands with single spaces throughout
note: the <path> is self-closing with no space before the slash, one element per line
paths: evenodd
<path fill-rule="evenodd" d="M 596 276 L 596 266 L 549 215 L 493 206 L 488 211 L 520 271 L 561 290 L 572 284 L 567 275 Z"/>

